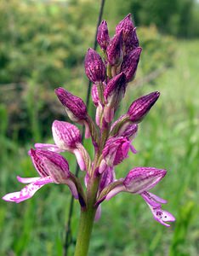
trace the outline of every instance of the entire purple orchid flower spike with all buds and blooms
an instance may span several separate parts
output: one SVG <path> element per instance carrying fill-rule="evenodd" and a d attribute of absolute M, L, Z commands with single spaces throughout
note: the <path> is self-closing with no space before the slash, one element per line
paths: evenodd
<path fill-rule="evenodd" d="M 39 177 L 17 177 L 20 183 L 28 184 L 19 192 L 4 195 L 3 200 L 19 203 L 31 198 L 47 183 L 64 183 L 80 202 L 82 211 L 93 207 L 95 219 L 98 219 L 103 201 L 120 192 L 128 192 L 141 195 L 153 217 L 169 226 L 168 222 L 173 222 L 175 218 L 162 210 L 162 204 L 167 201 L 149 192 L 166 175 L 166 170 L 135 167 L 126 177 L 119 179 L 115 173 L 115 166 L 128 157 L 129 151 L 136 154 L 132 142 L 137 135 L 138 124 L 160 96 L 158 91 L 141 96 L 130 105 L 127 113 L 112 123 L 128 82 L 134 79 L 142 50 L 131 15 L 119 22 L 113 38 L 109 37 L 106 21 L 103 20 L 98 28 L 97 41 L 103 58 L 94 49 L 88 49 L 85 57 L 85 73 L 93 83 L 95 122 L 88 115 L 87 106 L 81 98 L 61 87 L 55 90 L 71 121 L 85 125 L 85 137 L 91 137 L 94 145 L 94 160 L 83 147 L 77 126 L 55 120 L 52 125 L 54 144 L 36 143 L 35 149 L 29 151 Z M 64 151 L 75 154 L 80 169 L 85 173 L 86 189 L 60 154 Z"/>

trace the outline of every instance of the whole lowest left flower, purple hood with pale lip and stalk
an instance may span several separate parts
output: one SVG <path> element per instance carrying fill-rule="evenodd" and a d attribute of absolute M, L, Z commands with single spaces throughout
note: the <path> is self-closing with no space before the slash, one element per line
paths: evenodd
<path fill-rule="evenodd" d="M 72 195 L 77 199 L 78 193 L 75 183 L 71 181 L 71 172 L 68 162 L 60 154 L 47 150 L 30 150 L 31 160 L 40 177 L 17 177 L 20 183 L 29 183 L 18 192 L 3 196 L 5 201 L 20 203 L 33 196 L 38 189 L 48 183 L 65 183 L 71 189 Z"/>

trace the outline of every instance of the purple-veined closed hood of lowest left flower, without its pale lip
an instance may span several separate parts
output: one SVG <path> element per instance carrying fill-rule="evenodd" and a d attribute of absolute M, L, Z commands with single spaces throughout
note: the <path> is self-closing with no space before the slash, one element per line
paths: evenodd
<path fill-rule="evenodd" d="M 54 183 L 65 183 L 70 177 L 68 162 L 60 154 L 31 149 L 31 160 L 41 177 L 50 176 Z"/>

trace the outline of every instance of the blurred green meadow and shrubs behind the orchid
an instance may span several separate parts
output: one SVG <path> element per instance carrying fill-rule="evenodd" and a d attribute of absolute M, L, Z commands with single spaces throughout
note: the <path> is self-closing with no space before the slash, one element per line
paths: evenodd
<path fill-rule="evenodd" d="M 0 182 L 1 195 L 22 185 L 16 176 L 37 176 L 27 150 L 52 143 L 54 119 L 68 120 L 54 95 L 64 86 L 85 100 L 83 59 L 94 44 L 100 1 L 0 2 Z M 139 195 L 117 195 L 102 205 L 89 255 L 199 255 L 199 3 L 194 0 L 106 0 L 103 19 L 111 36 L 125 15 L 134 15 L 140 46 L 139 70 L 117 116 L 153 90 L 162 96 L 139 125 L 130 155 L 117 167 L 123 177 L 134 166 L 168 170 L 152 190 L 168 200 L 176 222 L 156 223 Z M 99 49 L 98 49 L 99 50 Z M 94 115 L 90 102 L 89 112 Z M 86 147 L 93 151 L 88 140 Z M 76 161 L 65 154 L 75 172 Z M 81 173 L 82 175 L 82 173 Z M 0 255 L 62 255 L 71 195 L 46 185 L 18 204 L 0 201 Z M 72 218 L 77 234 L 78 203 Z M 72 255 L 74 246 L 70 247 Z"/>

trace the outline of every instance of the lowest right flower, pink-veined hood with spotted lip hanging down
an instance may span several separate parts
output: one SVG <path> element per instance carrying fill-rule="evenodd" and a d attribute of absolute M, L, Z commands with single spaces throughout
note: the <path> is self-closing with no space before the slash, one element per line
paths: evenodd
<path fill-rule="evenodd" d="M 132 194 L 139 194 L 150 207 L 153 217 L 159 223 L 169 227 L 167 222 L 175 221 L 175 218 L 170 212 L 162 210 L 162 205 L 167 201 L 148 192 L 162 180 L 166 175 L 166 170 L 156 169 L 153 167 L 136 167 L 128 172 L 127 177 L 121 181 L 105 196 L 106 200 L 110 200 L 113 196 L 120 192 L 129 192 Z"/>

